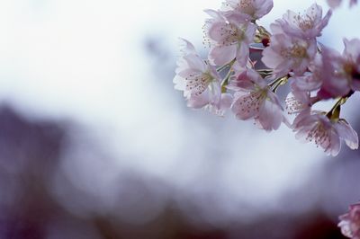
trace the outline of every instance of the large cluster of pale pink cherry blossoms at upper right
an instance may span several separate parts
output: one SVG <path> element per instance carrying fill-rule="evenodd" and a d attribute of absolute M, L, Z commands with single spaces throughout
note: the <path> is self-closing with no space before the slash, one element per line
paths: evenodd
<path fill-rule="evenodd" d="M 284 123 L 297 138 L 315 143 L 328 155 L 338 155 L 342 142 L 356 149 L 356 131 L 340 111 L 360 90 L 360 40 L 345 39 L 342 53 L 321 44 L 318 38 L 332 10 L 323 13 L 318 4 L 304 13 L 287 11 L 268 31 L 258 20 L 272 8 L 272 0 L 226 0 L 219 10 L 205 10 L 208 57 L 200 58 L 193 45 L 182 40 L 175 89 L 183 91 L 187 105 L 195 109 L 220 116 L 229 110 L 238 120 L 254 120 L 266 131 Z M 290 93 L 281 102 L 277 90 L 284 85 Z M 334 106 L 313 110 L 322 101 L 333 101 Z M 285 112 L 293 115 L 292 123 Z"/>

